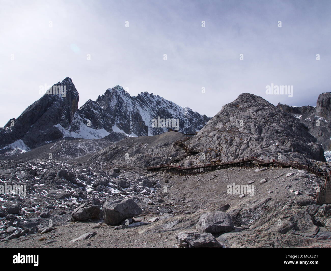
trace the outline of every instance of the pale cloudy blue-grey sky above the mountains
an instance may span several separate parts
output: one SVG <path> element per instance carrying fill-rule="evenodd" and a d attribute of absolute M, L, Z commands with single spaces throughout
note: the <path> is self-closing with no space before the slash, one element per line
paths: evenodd
<path fill-rule="evenodd" d="M 79 107 L 120 85 L 207 116 L 243 92 L 315 106 L 331 91 L 330 0 L 0 0 L 0 7 L 0 126 L 38 100 L 40 86 L 66 77 Z M 266 94 L 271 84 L 293 86 L 292 97 Z"/>

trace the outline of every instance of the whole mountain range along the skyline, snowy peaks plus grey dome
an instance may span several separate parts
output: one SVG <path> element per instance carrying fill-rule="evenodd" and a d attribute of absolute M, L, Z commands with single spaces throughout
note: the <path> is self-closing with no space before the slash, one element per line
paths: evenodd
<path fill-rule="evenodd" d="M 54 86 L 66 86 L 66 95 L 46 93 L 17 119 L 12 118 L 0 128 L 3 158 L 34 150 L 21 157 L 47 158 L 52 153 L 56 159 L 72 159 L 95 153 L 89 159 L 105 161 L 122 159 L 129 153 L 131 158 L 139 156 L 143 165 L 154 164 L 160 157 L 153 161 L 150 150 L 144 153 L 138 146 L 132 149 L 131 143 L 128 150 L 127 146 L 122 148 L 125 142 L 114 146 L 113 143 L 127 137 L 167 132 L 168 127 L 153 125 L 157 118 L 178 119 L 178 132 L 182 134 L 200 131 L 190 140 L 191 147 L 205 154 L 203 158 L 196 157 L 200 161 L 250 155 L 306 162 L 330 157 L 330 92 L 319 95 L 316 107 L 280 103 L 274 106 L 262 97 L 243 93 L 211 118 L 153 93 L 132 97 L 120 86 L 107 89 L 96 101 L 88 100 L 78 109 L 79 95 L 71 78 Z M 162 152 L 165 159 L 178 155 L 165 149 Z"/>

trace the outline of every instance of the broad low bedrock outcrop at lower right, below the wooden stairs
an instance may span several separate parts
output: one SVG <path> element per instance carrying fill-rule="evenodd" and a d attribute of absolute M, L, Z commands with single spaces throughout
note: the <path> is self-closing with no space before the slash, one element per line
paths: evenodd
<path fill-rule="evenodd" d="M 321 219 L 313 217 L 316 211 L 311 208 L 316 205 L 302 203 L 271 198 L 250 199 L 229 209 L 227 214 L 232 217 L 235 226 L 246 225 L 250 230 L 258 232 L 300 235 L 318 240 L 331 239 L 329 222 L 323 219 L 325 216 L 321 215 Z M 324 210 L 321 208 L 322 213 Z"/>

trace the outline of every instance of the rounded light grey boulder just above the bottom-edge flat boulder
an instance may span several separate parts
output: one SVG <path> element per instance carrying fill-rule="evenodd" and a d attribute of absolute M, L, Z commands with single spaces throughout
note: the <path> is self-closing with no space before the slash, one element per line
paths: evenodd
<path fill-rule="evenodd" d="M 208 233 L 230 232 L 234 229 L 231 217 L 222 211 L 208 212 L 200 216 L 197 231 Z"/>

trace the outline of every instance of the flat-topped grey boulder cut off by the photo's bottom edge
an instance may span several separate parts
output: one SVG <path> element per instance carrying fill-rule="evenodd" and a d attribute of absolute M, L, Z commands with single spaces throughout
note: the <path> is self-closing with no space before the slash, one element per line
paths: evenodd
<path fill-rule="evenodd" d="M 183 248 L 222 248 L 222 245 L 210 233 L 184 231 L 176 239 Z"/>

